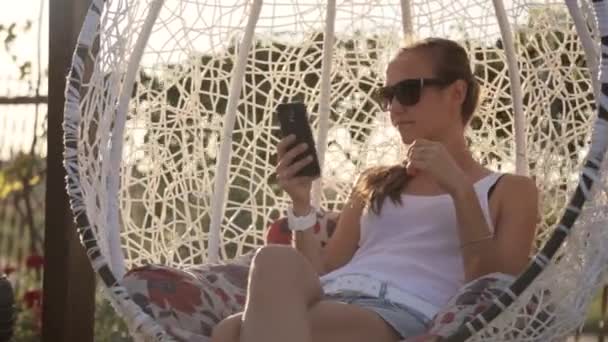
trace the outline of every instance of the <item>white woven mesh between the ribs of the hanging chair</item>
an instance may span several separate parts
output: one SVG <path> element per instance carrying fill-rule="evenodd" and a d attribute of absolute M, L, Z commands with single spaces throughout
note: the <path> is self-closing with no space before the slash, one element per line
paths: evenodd
<path fill-rule="evenodd" d="M 105 255 L 117 246 L 103 230 L 117 229 L 108 206 L 116 203 L 107 190 L 108 179 L 116 175 L 108 162 L 109 132 L 152 2 L 108 1 L 94 72 L 84 82 L 81 181 L 87 213 L 99 227 Z M 514 171 L 512 90 L 505 52 L 497 44 L 500 33 L 492 2 L 412 2 L 415 37 L 457 39 L 471 53 L 483 89 L 468 133 L 472 149 L 490 167 Z M 590 18 L 589 4 L 582 5 L 584 18 Z M 540 245 L 575 186 L 594 116 L 593 87 L 565 6 L 516 0 L 505 7 L 520 68 L 530 174 L 542 191 Z M 120 165 L 120 238 L 127 268 L 145 262 L 181 267 L 208 260 L 219 144 L 225 138 L 221 132 L 228 97 L 234 95 L 228 90 L 237 63 L 235 46 L 250 9 L 242 0 L 167 0 L 154 23 L 129 104 Z M 278 142 L 273 111 L 280 102 L 302 100 L 318 128 L 325 16 L 320 1 L 266 1 L 262 7 L 232 131 L 221 222 L 223 258 L 262 245 L 264 229 L 288 205 L 273 176 Z M 594 28 L 591 21 L 589 26 Z M 397 132 L 372 99 L 403 39 L 401 4 L 341 1 L 335 31 L 321 194 L 321 205 L 330 210 L 339 210 L 358 172 L 395 162 L 403 153 Z M 605 222 L 604 217 L 597 219 Z M 551 296 L 560 299 L 557 319 L 571 322 L 568 327 L 580 321 L 583 305 L 598 284 L 590 277 L 604 264 L 590 262 L 605 262 L 607 249 L 601 247 L 606 233 L 592 220 L 587 215 L 577 224 L 579 232 L 568 243 L 567 255 L 542 276 L 540 287 L 534 287 L 547 285 L 558 294 Z M 597 254 L 590 253 L 604 259 L 592 259 Z"/>

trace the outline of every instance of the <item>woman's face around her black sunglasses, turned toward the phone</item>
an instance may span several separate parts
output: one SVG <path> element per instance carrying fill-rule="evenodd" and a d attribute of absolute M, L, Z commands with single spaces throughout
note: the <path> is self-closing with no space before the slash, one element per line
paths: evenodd
<path fill-rule="evenodd" d="M 420 90 L 419 97 L 414 95 L 409 99 L 409 102 L 413 102 L 418 98 L 416 103 L 403 104 L 395 94 L 388 105 L 391 121 L 405 144 L 411 144 L 420 138 L 441 141 L 453 133 L 450 130 L 454 127 L 460 126 L 462 129 L 460 104 L 452 94 L 453 84 L 439 86 L 428 85 L 430 82 L 427 82 L 427 85 L 421 87 L 417 81 L 403 82 L 420 78 L 436 79 L 432 62 L 423 51 L 402 52 L 391 61 L 386 72 L 386 86 L 397 85 L 395 93 L 409 89 L 409 93 L 415 94 L 417 89 Z M 399 85 L 402 85 L 401 89 Z M 406 89 L 403 89 L 404 85 Z M 417 89 L 411 89 L 412 87 Z"/>

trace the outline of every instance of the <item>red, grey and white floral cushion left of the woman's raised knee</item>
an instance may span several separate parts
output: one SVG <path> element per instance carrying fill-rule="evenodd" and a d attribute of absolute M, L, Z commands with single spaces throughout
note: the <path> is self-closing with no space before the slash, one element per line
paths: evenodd
<path fill-rule="evenodd" d="M 338 213 L 317 211 L 315 234 L 321 243 L 333 233 Z M 267 244 L 291 243 L 287 218 L 274 221 Z M 123 285 L 133 300 L 179 341 L 208 341 L 212 328 L 245 304 L 247 276 L 255 251 L 222 264 L 179 270 L 146 265 L 130 270 Z"/>

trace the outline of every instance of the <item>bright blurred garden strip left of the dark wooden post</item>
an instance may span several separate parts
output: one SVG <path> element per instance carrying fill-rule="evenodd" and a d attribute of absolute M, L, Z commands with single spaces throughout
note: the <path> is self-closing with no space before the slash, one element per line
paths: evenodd
<path fill-rule="evenodd" d="M 15 341 L 39 341 L 44 265 L 48 1 L 0 11 L 0 273 Z"/>

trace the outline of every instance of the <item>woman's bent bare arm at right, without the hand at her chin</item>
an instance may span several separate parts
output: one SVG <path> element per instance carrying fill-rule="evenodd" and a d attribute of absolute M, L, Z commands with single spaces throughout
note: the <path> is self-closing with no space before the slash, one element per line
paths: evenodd
<path fill-rule="evenodd" d="M 495 190 L 498 201 L 495 235 L 491 236 L 479 200 L 467 184 L 452 195 L 459 225 L 465 281 L 502 272 L 524 270 L 534 242 L 538 191 L 528 177 L 505 175 Z"/>

